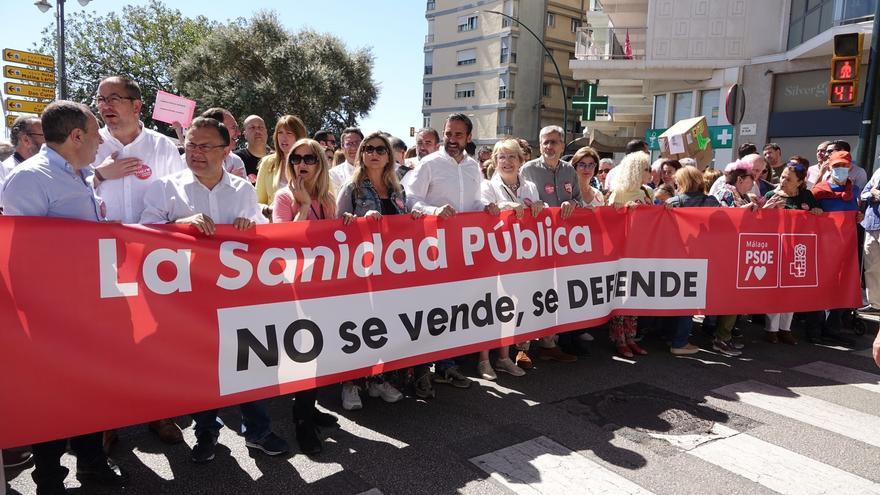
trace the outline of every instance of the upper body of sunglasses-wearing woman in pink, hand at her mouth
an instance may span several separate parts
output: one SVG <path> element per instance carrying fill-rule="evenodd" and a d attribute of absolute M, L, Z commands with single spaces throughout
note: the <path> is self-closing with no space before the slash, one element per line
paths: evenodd
<path fill-rule="evenodd" d="M 287 186 L 278 189 L 272 201 L 272 221 L 336 218 L 329 170 L 320 143 L 308 138 L 294 143 L 282 168 Z"/>

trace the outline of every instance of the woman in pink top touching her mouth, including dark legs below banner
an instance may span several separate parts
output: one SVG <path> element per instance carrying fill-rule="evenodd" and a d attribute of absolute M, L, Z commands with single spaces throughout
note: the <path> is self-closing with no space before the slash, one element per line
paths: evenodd
<path fill-rule="evenodd" d="M 281 175 L 284 176 L 287 186 L 282 186 L 275 192 L 272 222 L 335 218 L 336 201 L 330 193 L 330 168 L 327 166 L 324 147 L 313 139 L 300 139 L 287 147 L 290 153 L 281 167 Z M 317 393 L 317 389 L 310 389 L 293 394 L 296 441 L 300 451 L 306 455 L 318 454 L 323 449 L 318 436 L 319 427 L 337 426 L 335 416 L 315 408 Z"/>

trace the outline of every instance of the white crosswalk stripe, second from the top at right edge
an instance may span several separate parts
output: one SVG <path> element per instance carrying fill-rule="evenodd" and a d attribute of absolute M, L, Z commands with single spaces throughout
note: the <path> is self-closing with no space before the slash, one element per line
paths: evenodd
<path fill-rule="evenodd" d="M 726 385 L 713 392 L 780 416 L 880 447 L 880 418 L 848 407 L 798 395 L 755 380 Z"/>

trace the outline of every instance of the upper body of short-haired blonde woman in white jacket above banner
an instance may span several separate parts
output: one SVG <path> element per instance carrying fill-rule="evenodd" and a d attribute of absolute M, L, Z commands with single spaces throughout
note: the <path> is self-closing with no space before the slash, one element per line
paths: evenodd
<path fill-rule="evenodd" d="M 492 150 L 492 163 L 495 174 L 483 181 L 482 199 L 484 205 L 495 204 L 501 210 L 514 210 L 517 218 L 522 218 L 526 208 L 537 216 L 546 206 L 538 196 L 538 188 L 533 182 L 520 177 L 525 155 L 519 143 L 514 139 L 505 139 L 495 143 Z"/>

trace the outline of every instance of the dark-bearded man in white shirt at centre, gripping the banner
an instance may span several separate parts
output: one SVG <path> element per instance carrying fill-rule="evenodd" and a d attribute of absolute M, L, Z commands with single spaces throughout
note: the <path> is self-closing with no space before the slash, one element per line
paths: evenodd
<path fill-rule="evenodd" d="M 425 215 L 449 218 L 458 212 L 487 211 L 497 215 L 495 204 L 483 206 L 480 184 L 483 176 L 480 165 L 468 156 L 465 146 L 471 140 L 473 124 L 464 114 L 452 114 L 446 118 L 443 148 L 427 155 L 418 168 L 406 176 L 406 206 Z M 435 381 L 458 388 L 468 388 L 471 380 L 464 376 L 454 360 L 436 363 Z M 418 379 L 423 380 L 419 377 Z M 419 384 L 417 383 L 417 386 Z"/>

